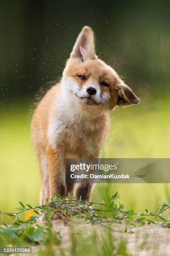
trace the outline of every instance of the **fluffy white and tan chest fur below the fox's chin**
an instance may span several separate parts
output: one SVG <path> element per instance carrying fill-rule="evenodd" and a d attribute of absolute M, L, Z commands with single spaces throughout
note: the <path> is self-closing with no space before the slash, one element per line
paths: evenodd
<path fill-rule="evenodd" d="M 47 137 L 53 149 L 58 142 L 65 142 L 74 151 L 82 143 L 91 143 L 91 135 L 99 127 L 100 118 L 92 116 L 77 102 L 58 97 L 50 113 Z"/>

